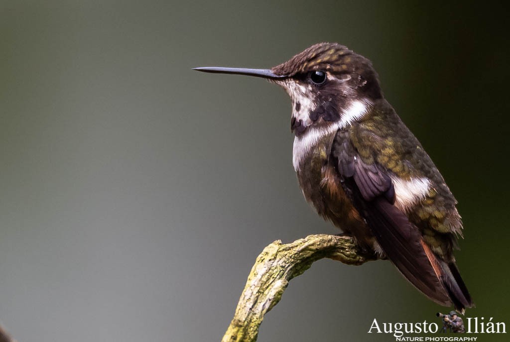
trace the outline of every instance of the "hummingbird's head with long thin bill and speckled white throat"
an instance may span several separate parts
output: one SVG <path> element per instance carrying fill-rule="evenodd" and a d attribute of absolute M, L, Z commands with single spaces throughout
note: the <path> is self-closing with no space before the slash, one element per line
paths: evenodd
<path fill-rule="evenodd" d="M 382 97 L 377 73 L 365 57 L 336 43 L 319 43 L 272 69 L 204 67 L 198 71 L 263 77 L 292 100 L 291 129 L 345 127 Z"/>

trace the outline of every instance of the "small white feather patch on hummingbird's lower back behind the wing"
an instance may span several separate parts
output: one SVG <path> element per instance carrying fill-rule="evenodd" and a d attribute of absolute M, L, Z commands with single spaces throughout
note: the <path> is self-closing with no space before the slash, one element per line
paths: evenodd
<path fill-rule="evenodd" d="M 411 180 L 391 177 L 391 180 L 395 187 L 395 205 L 404 213 L 425 198 L 430 189 L 430 179 L 426 177 Z"/>

